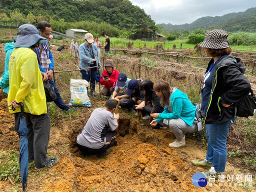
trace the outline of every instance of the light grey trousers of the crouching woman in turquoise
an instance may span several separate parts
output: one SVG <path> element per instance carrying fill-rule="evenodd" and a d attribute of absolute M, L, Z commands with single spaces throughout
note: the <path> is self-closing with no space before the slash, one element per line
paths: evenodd
<path fill-rule="evenodd" d="M 176 136 L 177 140 L 183 138 L 184 134 L 187 132 L 197 131 L 197 125 L 195 123 L 189 126 L 181 118 L 167 119 L 167 120 L 168 120 L 168 126 L 170 130 Z M 161 121 L 159 124 L 166 126 L 166 124 L 163 124 L 163 121 Z"/>

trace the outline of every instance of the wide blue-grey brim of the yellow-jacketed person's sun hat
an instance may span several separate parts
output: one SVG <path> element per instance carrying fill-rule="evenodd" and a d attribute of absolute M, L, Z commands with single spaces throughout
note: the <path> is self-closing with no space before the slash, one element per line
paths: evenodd
<path fill-rule="evenodd" d="M 30 47 L 39 40 L 47 40 L 39 34 L 19 34 L 14 47 Z M 44 41 L 44 42 L 45 42 Z M 42 43 L 42 42 L 41 42 Z"/>

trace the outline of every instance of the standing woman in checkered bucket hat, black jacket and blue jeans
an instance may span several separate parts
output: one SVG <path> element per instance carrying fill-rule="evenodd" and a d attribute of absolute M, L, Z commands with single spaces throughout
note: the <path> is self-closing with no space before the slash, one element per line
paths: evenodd
<path fill-rule="evenodd" d="M 244 76 L 245 67 L 230 54 L 227 36 L 224 30 L 210 30 L 200 45 L 206 56 L 211 57 L 201 89 L 208 149 L 204 160 L 192 160 L 192 164 L 213 166 L 216 174 L 225 171 L 226 136 L 236 118 L 235 102 L 250 90 L 249 80 Z M 208 176 L 208 171 L 203 173 Z"/>

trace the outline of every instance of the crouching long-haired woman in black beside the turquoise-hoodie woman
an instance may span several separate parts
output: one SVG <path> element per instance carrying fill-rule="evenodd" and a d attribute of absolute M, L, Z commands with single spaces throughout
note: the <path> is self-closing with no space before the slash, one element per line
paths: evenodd
<path fill-rule="evenodd" d="M 153 89 L 153 82 L 149 79 L 145 79 L 140 83 L 140 89 L 145 94 L 144 100 L 139 104 L 135 105 L 135 109 L 140 109 L 143 115 L 143 119 L 149 119 L 150 113 L 161 113 L 163 107 L 161 106 L 161 98 L 155 94 Z M 152 111 L 153 108 L 153 111 Z M 153 127 L 153 129 L 159 128 L 158 126 Z"/>

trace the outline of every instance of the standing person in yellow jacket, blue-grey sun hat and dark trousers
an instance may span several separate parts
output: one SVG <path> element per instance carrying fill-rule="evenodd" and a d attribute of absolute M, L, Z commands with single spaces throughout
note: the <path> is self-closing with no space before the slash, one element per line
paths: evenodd
<path fill-rule="evenodd" d="M 36 54 L 33 52 L 39 41 L 45 41 L 46 38 L 40 36 L 39 31 L 31 24 L 20 25 L 17 34 L 15 49 L 9 58 L 9 112 L 15 114 L 15 125 L 18 130 L 19 102 L 23 103 L 28 128 L 28 161 L 34 160 L 34 168 L 41 169 L 57 161 L 55 156 L 46 156 L 50 119 L 41 72 Z"/>

